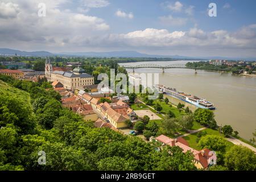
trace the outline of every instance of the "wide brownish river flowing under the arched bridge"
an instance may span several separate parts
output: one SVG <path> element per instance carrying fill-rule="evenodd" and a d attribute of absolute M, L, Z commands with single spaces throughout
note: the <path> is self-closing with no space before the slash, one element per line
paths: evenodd
<path fill-rule="evenodd" d="M 148 61 L 135 63 L 120 63 L 120 65 L 140 64 L 185 64 L 188 61 Z M 192 62 L 192 61 L 191 61 Z M 132 69 L 127 69 L 132 72 Z M 256 77 L 234 76 L 231 73 L 204 71 L 184 68 L 162 69 L 140 68 L 135 73 L 159 73 L 159 84 L 176 88 L 177 90 L 205 98 L 216 106 L 214 110 L 218 125 L 231 125 L 245 139 L 253 137 L 256 129 Z M 168 97 L 170 102 L 181 102 Z M 181 102 L 182 103 L 182 102 Z M 197 107 L 184 102 L 190 109 Z"/>

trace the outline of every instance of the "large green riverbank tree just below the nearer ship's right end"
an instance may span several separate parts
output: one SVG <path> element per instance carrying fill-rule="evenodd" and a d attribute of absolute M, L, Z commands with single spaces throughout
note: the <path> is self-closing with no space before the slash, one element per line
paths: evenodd
<path fill-rule="evenodd" d="M 194 119 L 196 122 L 199 122 L 201 125 L 208 125 L 210 128 L 217 126 L 216 121 L 214 120 L 213 111 L 209 109 L 196 109 L 194 112 Z"/>

